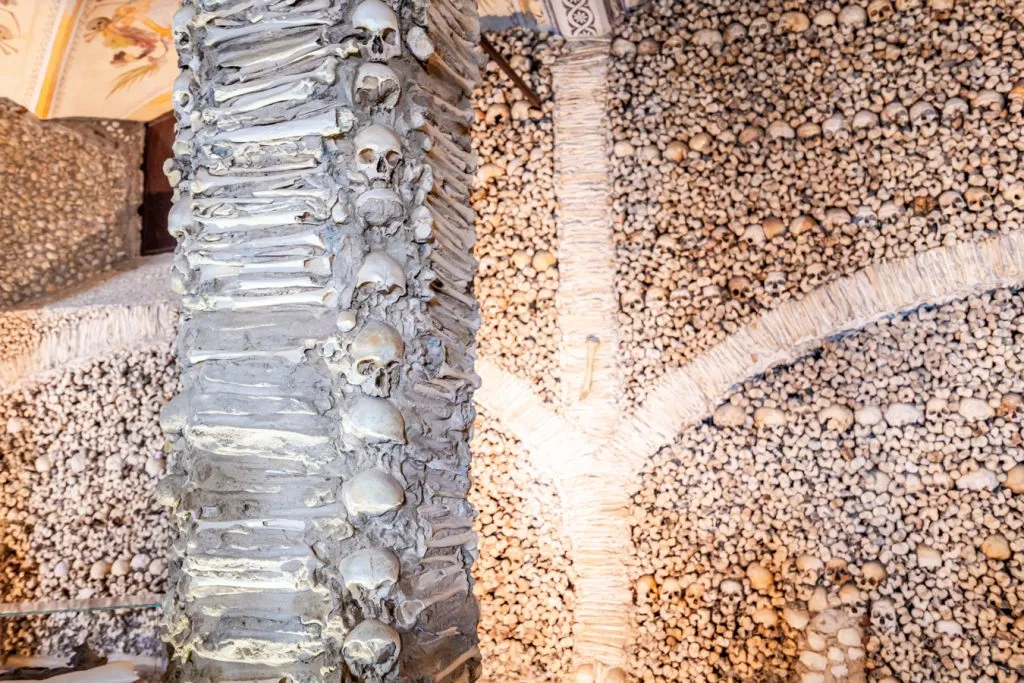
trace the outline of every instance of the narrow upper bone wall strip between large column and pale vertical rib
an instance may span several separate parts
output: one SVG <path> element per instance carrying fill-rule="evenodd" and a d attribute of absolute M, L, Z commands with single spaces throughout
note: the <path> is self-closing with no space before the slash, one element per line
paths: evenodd
<path fill-rule="evenodd" d="M 487 38 L 543 109 L 532 109 L 494 61 L 481 71 L 473 95 L 479 170 L 472 203 L 480 264 L 479 353 L 530 380 L 552 400 L 558 392 L 559 334 L 551 65 L 562 45 L 558 38 L 522 29 Z"/>

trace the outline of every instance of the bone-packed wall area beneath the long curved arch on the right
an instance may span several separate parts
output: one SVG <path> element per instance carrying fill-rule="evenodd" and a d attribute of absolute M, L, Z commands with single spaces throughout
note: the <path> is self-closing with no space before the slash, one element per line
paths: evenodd
<path fill-rule="evenodd" d="M 748 381 L 664 449 L 634 497 L 638 677 L 803 674 L 818 627 L 802 615 L 825 607 L 863 628 L 870 680 L 1019 675 L 1022 314 L 999 290 L 872 324 Z M 855 418 L 870 407 L 886 417 Z M 1009 560 L 986 559 L 993 535 Z"/>

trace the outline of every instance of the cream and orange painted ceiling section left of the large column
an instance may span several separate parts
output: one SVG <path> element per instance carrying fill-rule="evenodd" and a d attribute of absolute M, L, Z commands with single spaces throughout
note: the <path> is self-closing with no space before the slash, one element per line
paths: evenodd
<path fill-rule="evenodd" d="M 179 0 L 0 0 L 0 96 L 40 118 L 170 109 Z"/>

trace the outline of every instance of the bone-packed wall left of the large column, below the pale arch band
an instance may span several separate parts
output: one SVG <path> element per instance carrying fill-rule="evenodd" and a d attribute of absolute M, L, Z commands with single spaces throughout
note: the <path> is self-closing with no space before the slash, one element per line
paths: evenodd
<path fill-rule="evenodd" d="M 0 394 L 0 602 L 164 592 L 169 519 L 153 498 L 165 469 L 157 417 L 177 388 L 165 343 Z M 122 617 L 147 629 L 94 631 L 85 615 L 3 620 L 0 653 L 67 653 L 86 641 L 131 652 L 136 639 L 150 643 L 147 653 L 160 651 L 157 614 L 106 622 Z"/>

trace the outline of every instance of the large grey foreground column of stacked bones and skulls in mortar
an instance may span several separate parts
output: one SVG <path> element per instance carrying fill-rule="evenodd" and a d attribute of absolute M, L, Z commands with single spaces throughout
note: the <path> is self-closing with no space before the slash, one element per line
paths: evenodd
<path fill-rule="evenodd" d="M 475 5 L 186 0 L 172 681 L 472 681 Z"/>

